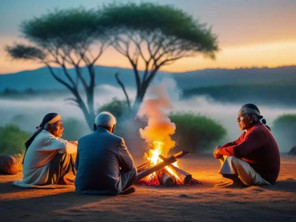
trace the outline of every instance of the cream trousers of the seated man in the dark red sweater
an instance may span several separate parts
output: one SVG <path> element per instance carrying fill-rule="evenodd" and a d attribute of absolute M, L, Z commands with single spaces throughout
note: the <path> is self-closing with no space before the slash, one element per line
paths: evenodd
<path fill-rule="evenodd" d="M 237 174 L 246 186 L 271 185 L 257 173 L 249 163 L 233 156 L 223 156 L 220 159 L 221 174 Z"/>

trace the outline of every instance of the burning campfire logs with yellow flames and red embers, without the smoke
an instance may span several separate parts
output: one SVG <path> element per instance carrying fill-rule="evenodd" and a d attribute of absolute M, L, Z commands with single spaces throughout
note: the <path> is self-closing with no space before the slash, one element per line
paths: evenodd
<path fill-rule="evenodd" d="M 137 167 L 138 173 L 143 172 L 144 170 L 150 169 L 152 167 L 157 167 L 160 163 L 165 161 L 173 162 L 177 158 L 180 158 L 187 154 L 188 152 L 181 151 L 169 158 L 165 158 L 163 154 L 163 142 L 153 141 L 154 149 L 150 149 L 148 153 L 145 153 L 144 158 L 148 160 L 147 163 Z M 164 163 L 166 166 L 149 174 L 148 176 L 141 178 L 137 184 L 148 185 L 148 186 L 185 186 L 192 184 L 200 184 L 199 181 L 192 178 L 192 175 L 179 169 L 178 162 L 173 163 Z"/>

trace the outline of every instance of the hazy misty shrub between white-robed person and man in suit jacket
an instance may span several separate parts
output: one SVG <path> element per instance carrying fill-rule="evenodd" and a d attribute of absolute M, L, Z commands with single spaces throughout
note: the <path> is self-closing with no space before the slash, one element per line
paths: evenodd
<path fill-rule="evenodd" d="M 62 139 L 66 139 L 68 141 L 76 141 L 81 136 L 91 133 L 86 121 L 78 118 L 71 117 L 64 119 L 63 127 L 64 131 Z"/>

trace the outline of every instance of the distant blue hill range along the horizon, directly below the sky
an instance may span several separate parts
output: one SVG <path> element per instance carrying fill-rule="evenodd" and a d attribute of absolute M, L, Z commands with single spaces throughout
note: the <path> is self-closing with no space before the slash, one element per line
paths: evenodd
<path fill-rule="evenodd" d="M 60 68 L 54 68 L 59 76 L 65 79 Z M 70 75 L 75 75 L 73 69 L 69 70 Z M 119 73 L 120 79 L 126 87 L 135 87 L 135 78 L 132 69 L 96 66 L 96 86 L 100 84 L 109 84 L 118 86 L 115 80 L 115 73 Z M 85 67 L 82 68 L 83 76 L 88 77 Z M 142 75 L 143 72 L 141 72 Z M 158 76 L 167 75 L 159 72 Z M 294 82 L 296 83 L 296 66 L 284 66 L 277 68 L 239 68 L 239 69 L 204 69 L 185 73 L 171 73 L 182 89 L 191 89 L 201 86 L 214 86 L 224 84 L 242 84 L 242 83 L 266 83 L 266 82 Z M 23 91 L 26 89 L 65 89 L 58 83 L 46 67 L 22 71 L 19 73 L 0 75 L 0 91 L 4 89 L 15 89 Z"/>

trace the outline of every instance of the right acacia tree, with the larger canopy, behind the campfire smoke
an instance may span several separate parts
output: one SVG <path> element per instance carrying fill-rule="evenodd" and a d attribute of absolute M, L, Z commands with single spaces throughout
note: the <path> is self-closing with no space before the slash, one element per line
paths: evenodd
<path fill-rule="evenodd" d="M 199 54 L 215 58 L 217 38 L 207 28 L 180 9 L 153 3 L 110 4 L 104 7 L 100 24 L 110 32 L 112 46 L 127 57 L 133 67 L 137 93 L 133 109 L 138 110 L 157 71 L 184 57 Z M 144 62 L 140 75 L 139 61 Z M 126 94 L 118 74 L 118 83 Z M 128 104 L 129 98 L 126 94 Z"/>

